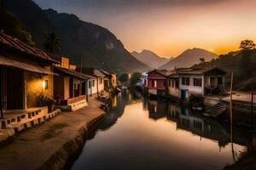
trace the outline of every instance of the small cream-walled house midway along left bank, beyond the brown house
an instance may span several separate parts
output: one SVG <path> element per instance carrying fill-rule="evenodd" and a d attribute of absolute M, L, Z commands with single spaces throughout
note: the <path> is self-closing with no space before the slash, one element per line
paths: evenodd
<path fill-rule="evenodd" d="M 92 79 L 92 94 L 99 94 L 104 90 L 104 77 L 106 77 L 102 71 L 94 68 L 82 68 L 82 72 L 90 77 L 94 77 Z"/>

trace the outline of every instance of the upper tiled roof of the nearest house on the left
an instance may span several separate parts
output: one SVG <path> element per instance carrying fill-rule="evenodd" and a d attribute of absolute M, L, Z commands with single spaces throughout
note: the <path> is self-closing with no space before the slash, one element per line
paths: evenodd
<path fill-rule="evenodd" d="M 43 59 L 49 62 L 58 63 L 55 59 L 52 59 L 49 54 L 45 53 L 39 48 L 32 47 L 25 42 L 21 42 L 15 37 L 10 37 L 2 32 L 0 32 L 0 44 L 7 48 L 14 48 L 21 53 L 28 54 L 34 59 Z"/>

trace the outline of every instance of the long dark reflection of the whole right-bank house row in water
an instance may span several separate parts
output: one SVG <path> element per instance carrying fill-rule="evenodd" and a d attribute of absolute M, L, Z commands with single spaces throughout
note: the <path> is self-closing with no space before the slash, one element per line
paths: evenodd
<path fill-rule="evenodd" d="M 230 143 L 230 130 L 220 123 L 192 114 L 188 108 L 163 101 L 148 100 L 148 116 L 157 120 L 166 117 L 177 122 L 177 129 L 183 129 L 206 139 L 218 141 L 224 147 Z M 247 134 L 242 129 L 234 129 L 233 142 L 247 145 Z"/>

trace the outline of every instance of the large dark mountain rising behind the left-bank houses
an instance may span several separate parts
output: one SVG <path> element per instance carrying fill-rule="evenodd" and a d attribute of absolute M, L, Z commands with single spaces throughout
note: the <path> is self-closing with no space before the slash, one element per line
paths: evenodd
<path fill-rule="evenodd" d="M 135 59 L 122 42 L 108 29 L 79 20 L 74 14 L 59 14 L 53 9 L 43 10 L 32 0 L 3 0 L 5 7 L 14 14 L 32 34 L 39 48 L 50 33 L 61 38 L 61 54 L 84 67 L 102 68 L 107 71 L 148 71 L 148 65 Z"/>

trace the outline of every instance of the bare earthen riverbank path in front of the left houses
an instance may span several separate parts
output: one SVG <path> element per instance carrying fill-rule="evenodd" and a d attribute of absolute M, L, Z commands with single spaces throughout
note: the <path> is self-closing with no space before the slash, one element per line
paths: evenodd
<path fill-rule="evenodd" d="M 100 105 L 100 101 L 91 97 L 88 107 L 63 112 L 1 145 L 1 169 L 65 169 L 71 166 L 83 149 L 89 128 L 106 115 Z"/>

